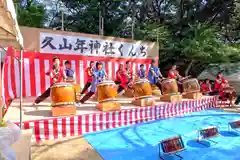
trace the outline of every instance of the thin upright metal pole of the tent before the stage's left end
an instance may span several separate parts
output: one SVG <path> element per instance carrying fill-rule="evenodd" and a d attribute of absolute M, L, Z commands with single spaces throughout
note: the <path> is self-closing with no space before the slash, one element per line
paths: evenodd
<path fill-rule="evenodd" d="M 20 51 L 20 128 L 22 129 L 22 103 L 23 103 L 23 92 L 22 92 L 22 77 L 23 77 L 23 49 Z"/>

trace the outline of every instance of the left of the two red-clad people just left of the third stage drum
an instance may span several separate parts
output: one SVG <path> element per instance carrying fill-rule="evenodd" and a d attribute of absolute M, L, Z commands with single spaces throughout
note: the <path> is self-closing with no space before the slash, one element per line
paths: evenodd
<path fill-rule="evenodd" d="M 128 85 L 128 75 L 126 71 L 124 70 L 123 64 L 119 65 L 119 68 L 116 72 L 116 79 L 115 83 L 119 84 L 117 92 L 122 92 Z"/>

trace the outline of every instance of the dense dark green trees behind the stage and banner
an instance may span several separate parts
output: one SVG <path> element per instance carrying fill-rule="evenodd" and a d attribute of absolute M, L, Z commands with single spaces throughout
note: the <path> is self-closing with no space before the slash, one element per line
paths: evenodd
<path fill-rule="evenodd" d="M 131 38 L 134 26 L 135 39 L 158 41 L 164 69 L 177 63 L 197 75 L 211 63 L 240 60 L 239 0 L 57 0 L 47 11 L 54 13 L 50 28 L 61 26 L 60 2 L 65 30 L 98 34 L 101 12 L 104 35 Z M 34 23 L 42 24 L 43 17 Z M 29 24 L 24 18 L 20 24 Z"/>

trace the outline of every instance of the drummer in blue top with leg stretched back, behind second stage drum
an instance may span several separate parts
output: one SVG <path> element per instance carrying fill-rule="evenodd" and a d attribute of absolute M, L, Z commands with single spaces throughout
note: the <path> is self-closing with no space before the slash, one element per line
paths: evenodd
<path fill-rule="evenodd" d="M 97 85 L 104 80 L 104 78 L 107 78 L 107 74 L 103 69 L 102 62 L 96 63 L 96 68 L 93 71 L 92 76 L 92 82 L 91 82 L 91 88 L 90 91 L 80 100 L 80 103 L 86 102 L 89 98 L 92 97 L 92 95 L 95 94 L 97 90 Z"/>

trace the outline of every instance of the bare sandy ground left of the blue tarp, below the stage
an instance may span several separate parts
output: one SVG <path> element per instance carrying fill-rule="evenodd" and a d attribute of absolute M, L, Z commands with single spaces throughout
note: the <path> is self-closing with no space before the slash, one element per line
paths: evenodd
<path fill-rule="evenodd" d="M 102 160 L 82 137 L 32 144 L 32 160 Z"/>

